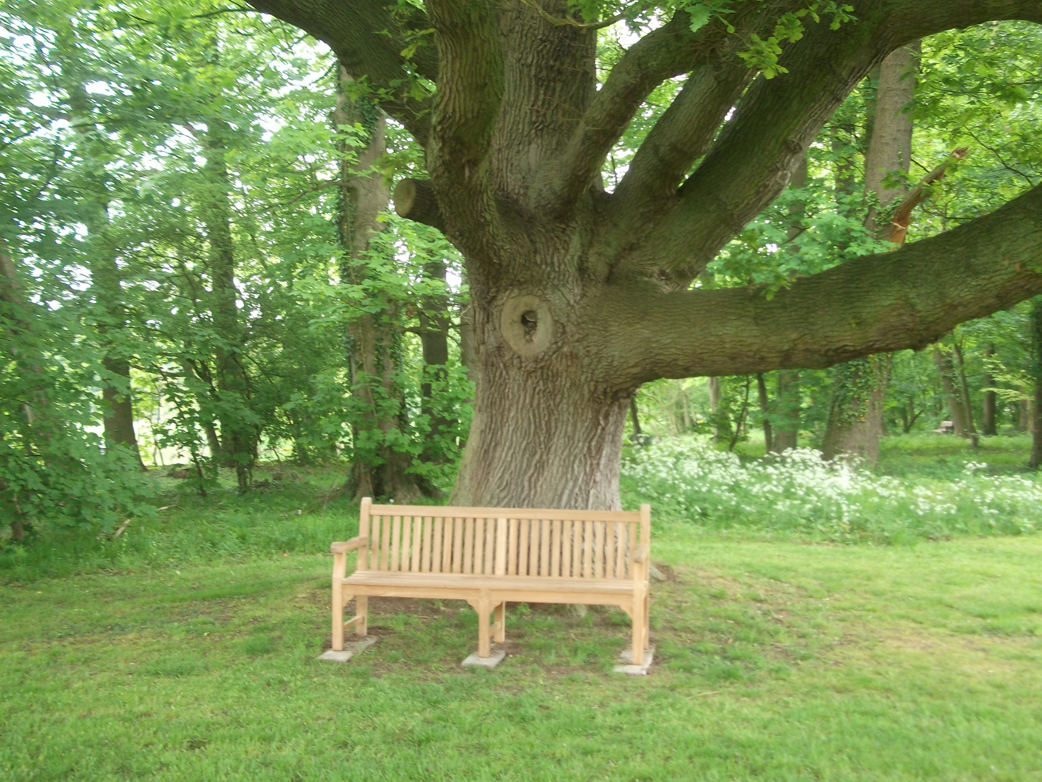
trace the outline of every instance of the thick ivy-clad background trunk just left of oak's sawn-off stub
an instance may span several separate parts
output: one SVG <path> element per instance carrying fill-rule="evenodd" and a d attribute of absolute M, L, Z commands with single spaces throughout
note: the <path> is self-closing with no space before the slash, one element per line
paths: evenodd
<path fill-rule="evenodd" d="M 333 124 L 358 126 L 366 133 L 366 146 L 356 148 L 354 160 L 346 154 L 346 144 L 341 150 L 344 154 L 337 226 L 343 252 L 341 278 L 364 285 L 370 277 L 369 245 L 373 235 L 381 229 L 377 217 L 391 199 L 383 174 L 375 168 L 377 160 L 387 152 L 387 117 L 372 98 L 352 89 L 354 80 L 343 65 L 339 66 L 338 74 Z M 355 496 L 410 502 L 420 496 L 421 491 L 416 476 L 405 471 L 411 463 L 408 454 L 396 447 L 402 439 L 399 433 L 404 407 L 398 381 L 402 338 L 399 307 L 400 302 L 384 296 L 379 308 L 357 313 L 347 326 L 351 394 L 361 405 L 357 419 L 352 423 L 354 460 L 345 488 Z"/>

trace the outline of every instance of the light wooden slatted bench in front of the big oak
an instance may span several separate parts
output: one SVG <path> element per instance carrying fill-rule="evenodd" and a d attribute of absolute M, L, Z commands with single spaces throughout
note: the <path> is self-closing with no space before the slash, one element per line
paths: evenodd
<path fill-rule="evenodd" d="M 506 603 L 618 606 L 632 619 L 634 665 L 648 647 L 651 507 L 625 511 L 439 508 L 362 500 L 358 537 L 333 543 L 332 649 L 368 633 L 369 597 L 467 601 L 479 658 L 502 642 Z M 357 549 L 346 576 L 347 552 Z M 355 616 L 344 606 L 355 600 Z M 490 614 L 494 619 L 490 625 Z"/>

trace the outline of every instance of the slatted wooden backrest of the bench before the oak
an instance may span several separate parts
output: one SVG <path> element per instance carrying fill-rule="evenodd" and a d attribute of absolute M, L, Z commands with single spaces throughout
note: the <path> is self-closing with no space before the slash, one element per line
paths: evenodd
<path fill-rule="evenodd" d="M 362 500 L 359 570 L 630 580 L 650 542 L 638 512 L 372 505 Z"/>

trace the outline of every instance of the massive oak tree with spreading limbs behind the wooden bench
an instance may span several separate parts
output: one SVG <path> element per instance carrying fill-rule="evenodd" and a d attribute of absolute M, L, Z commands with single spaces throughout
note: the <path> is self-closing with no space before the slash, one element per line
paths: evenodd
<path fill-rule="evenodd" d="M 454 504 L 618 507 L 623 424 L 642 383 L 921 347 L 1042 292 L 1039 188 L 773 296 L 692 287 L 890 52 L 989 20 L 1042 23 L 1038 0 L 855 0 L 838 29 L 802 16 L 770 79 L 749 67 L 750 46 L 826 4 L 695 3 L 727 13 L 697 26 L 677 10 L 599 89 L 598 25 L 563 0 L 251 2 L 329 44 L 426 149 L 429 181 L 411 182 L 397 207 L 464 253 L 480 361 Z M 649 93 L 681 76 L 605 192 L 613 145 Z M 420 79 L 437 85 L 429 97 Z"/>

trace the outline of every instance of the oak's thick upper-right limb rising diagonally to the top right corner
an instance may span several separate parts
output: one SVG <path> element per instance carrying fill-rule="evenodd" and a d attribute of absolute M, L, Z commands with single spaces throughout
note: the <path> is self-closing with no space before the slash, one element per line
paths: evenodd
<path fill-rule="evenodd" d="M 1042 20 L 1037 0 L 859 0 L 857 22 L 812 24 L 788 47 L 789 73 L 759 78 L 671 209 L 642 225 L 617 223 L 622 274 L 684 288 L 773 200 L 824 122 L 868 70 L 898 46 L 950 27 L 997 19 Z M 627 214 L 645 215 L 642 204 Z"/>

